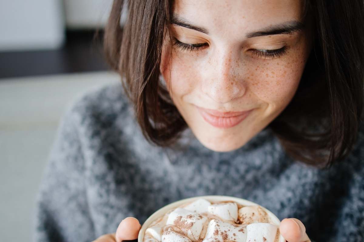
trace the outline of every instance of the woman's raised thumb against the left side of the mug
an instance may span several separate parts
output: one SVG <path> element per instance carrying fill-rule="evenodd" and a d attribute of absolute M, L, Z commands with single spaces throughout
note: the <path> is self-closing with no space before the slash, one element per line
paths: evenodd
<path fill-rule="evenodd" d="M 116 242 L 137 239 L 141 227 L 142 225 L 136 218 L 124 218 L 124 220 L 120 222 L 118 229 L 116 229 Z"/>

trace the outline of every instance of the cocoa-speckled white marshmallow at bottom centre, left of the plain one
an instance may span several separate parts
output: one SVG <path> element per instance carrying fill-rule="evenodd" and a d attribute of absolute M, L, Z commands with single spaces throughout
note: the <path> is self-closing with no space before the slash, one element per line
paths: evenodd
<path fill-rule="evenodd" d="M 234 242 L 246 241 L 246 227 L 238 224 L 231 224 L 220 220 L 211 220 L 207 227 L 206 236 L 203 242 L 226 241 Z"/>

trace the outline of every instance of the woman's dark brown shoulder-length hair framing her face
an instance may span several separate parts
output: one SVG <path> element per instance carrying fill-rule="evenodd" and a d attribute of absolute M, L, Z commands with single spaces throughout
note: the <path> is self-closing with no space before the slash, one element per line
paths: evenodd
<path fill-rule="evenodd" d="M 124 79 L 143 134 L 163 147 L 173 144 L 187 128 L 159 81 L 172 4 L 171 0 L 128 1 L 122 28 L 124 1 L 114 0 L 104 34 L 107 60 Z M 268 128 L 294 159 L 328 167 L 349 154 L 361 125 L 363 0 L 306 0 L 304 4 L 314 25 L 313 50 L 294 98 Z"/>

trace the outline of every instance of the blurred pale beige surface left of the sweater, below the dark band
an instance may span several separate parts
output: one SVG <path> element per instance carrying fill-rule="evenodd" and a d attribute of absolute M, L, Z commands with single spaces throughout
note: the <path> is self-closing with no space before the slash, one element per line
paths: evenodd
<path fill-rule="evenodd" d="M 35 197 L 59 119 L 111 72 L 0 79 L 1 241 L 31 241 Z"/>

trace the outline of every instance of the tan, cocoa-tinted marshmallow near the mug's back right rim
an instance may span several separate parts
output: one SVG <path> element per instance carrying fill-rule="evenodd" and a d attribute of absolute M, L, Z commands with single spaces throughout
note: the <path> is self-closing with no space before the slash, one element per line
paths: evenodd
<path fill-rule="evenodd" d="M 240 223 L 268 223 L 268 214 L 261 208 L 261 206 L 244 206 L 239 209 L 238 218 Z"/>

